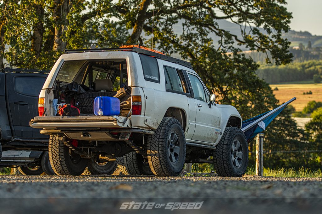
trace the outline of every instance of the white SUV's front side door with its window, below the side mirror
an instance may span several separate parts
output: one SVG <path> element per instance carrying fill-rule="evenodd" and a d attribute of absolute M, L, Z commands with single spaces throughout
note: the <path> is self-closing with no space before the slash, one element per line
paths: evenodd
<path fill-rule="evenodd" d="M 194 92 L 196 106 L 196 121 L 194 135 L 191 140 L 214 143 L 220 134 L 220 114 L 216 106 L 209 107 L 208 93 L 199 77 L 188 73 Z"/>

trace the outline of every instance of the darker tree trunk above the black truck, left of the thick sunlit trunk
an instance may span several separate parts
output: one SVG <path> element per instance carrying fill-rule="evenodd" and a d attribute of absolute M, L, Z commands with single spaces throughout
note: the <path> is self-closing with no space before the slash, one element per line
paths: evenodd
<path fill-rule="evenodd" d="M 39 14 L 39 20 L 33 25 L 33 35 L 31 37 L 31 50 L 35 54 L 35 58 L 38 59 L 43 46 L 43 34 L 45 28 L 43 26 L 44 9 L 41 5 L 35 5 L 35 12 Z"/>

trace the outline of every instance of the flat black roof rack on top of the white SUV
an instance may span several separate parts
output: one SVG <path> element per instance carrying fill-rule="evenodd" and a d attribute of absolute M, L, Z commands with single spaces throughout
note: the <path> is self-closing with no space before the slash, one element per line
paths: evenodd
<path fill-rule="evenodd" d="M 139 48 L 139 47 L 122 47 L 122 48 L 93 48 L 93 49 L 66 49 L 64 54 L 71 54 L 71 53 L 83 53 L 83 52 L 104 52 L 104 51 L 132 51 L 132 52 L 136 52 L 138 54 L 144 54 L 147 56 L 153 56 L 156 57 L 158 59 L 162 59 L 162 60 L 166 60 L 169 62 L 173 62 L 176 64 L 180 64 L 183 65 L 185 67 L 188 67 L 190 69 L 192 68 L 192 65 L 190 62 L 181 60 L 181 59 L 177 59 L 171 56 L 166 56 L 163 54 L 159 54 L 153 51 L 149 51 L 143 48 Z"/>

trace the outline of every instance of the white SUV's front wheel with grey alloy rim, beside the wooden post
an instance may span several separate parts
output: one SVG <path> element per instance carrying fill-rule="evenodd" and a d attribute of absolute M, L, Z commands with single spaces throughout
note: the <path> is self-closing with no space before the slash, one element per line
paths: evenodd
<path fill-rule="evenodd" d="M 241 177 L 248 164 L 247 140 L 241 129 L 226 127 L 213 151 L 213 165 L 219 176 Z"/>

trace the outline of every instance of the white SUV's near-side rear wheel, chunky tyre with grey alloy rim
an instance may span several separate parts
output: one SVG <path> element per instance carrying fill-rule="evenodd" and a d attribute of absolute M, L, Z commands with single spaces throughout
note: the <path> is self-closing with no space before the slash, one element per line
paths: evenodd
<path fill-rule="evenodd" d="M 147 138 L 147 159 L 153 174 L 177 176 L 185 165 L 185 134 L 180 122 L 172 117 L 162 119 L 154 135 Z"/>

